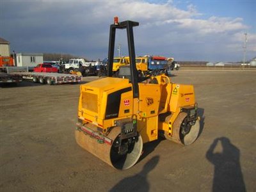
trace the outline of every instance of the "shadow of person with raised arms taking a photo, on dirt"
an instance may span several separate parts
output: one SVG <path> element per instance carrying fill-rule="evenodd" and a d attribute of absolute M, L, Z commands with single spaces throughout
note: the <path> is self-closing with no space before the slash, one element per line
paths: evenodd
<path fill-rule="evenodd" d="M 219 142 L 222 152 L 214 152 Z M 246 191 L 239 161 L 240 150 L 228 138 L 216 138 L 205 156 L 214 165 L 212 191 Z"/>

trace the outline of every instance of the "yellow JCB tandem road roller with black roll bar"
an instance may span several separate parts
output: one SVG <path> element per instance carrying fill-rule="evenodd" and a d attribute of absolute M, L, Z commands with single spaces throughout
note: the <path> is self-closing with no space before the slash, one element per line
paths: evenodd
<path fill-rule="evenodd" d="M 133 36 L 138 25 L 131 20 L 111 24 L 108 77 L 80 87 L 76 141 L 119 170 L 138 161 L 143 143 L 160 135 L 189 145 L 200 129 L 192 85 L 172 83 L 164 74 L 138 77 Z M 127 30 L 131 61 L 119 78 L 112 77 L 116 29 Z"/>

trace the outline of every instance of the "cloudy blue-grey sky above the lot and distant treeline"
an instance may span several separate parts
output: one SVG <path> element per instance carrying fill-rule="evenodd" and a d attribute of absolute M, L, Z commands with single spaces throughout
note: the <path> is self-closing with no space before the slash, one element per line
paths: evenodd
<path fill-rule="evenodd" d="M 109 25 L 118 16 L 120 21 L 140 22 L 134 28 L 136 55 L 242 61 L 245 32 L 246 58 L 256 56 L 255 8 L 254 0 L 0 0 L 0 36 L 15 52 L 69 53 L 102 60 L 108 55 Z M 125 55 L 125 31 L 117 35 L 116 45 Z"/>

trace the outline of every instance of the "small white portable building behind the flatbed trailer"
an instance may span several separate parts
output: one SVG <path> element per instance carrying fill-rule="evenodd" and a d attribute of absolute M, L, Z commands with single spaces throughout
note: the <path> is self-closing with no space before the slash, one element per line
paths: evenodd
<path fill-rule="evenodd" d="M 44 63 L 42 53 L 24 53 L 20 52 L 16 54 L 17 67 L 35 67 L 40 63 Z"/>

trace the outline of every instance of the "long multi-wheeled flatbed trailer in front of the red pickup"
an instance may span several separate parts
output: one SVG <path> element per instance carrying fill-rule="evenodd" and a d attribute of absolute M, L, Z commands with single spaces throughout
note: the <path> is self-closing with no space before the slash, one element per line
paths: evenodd
<path fill-rule="evenodd" d="M 63 83 L 78 83 L 82 81 L 82 76 L 72 74 L 58 74 L 45 72 L 13 72 L 18 74 L 23 79 L 32 80 L 35 83 L 47 84 L 63 84 Z"/>

